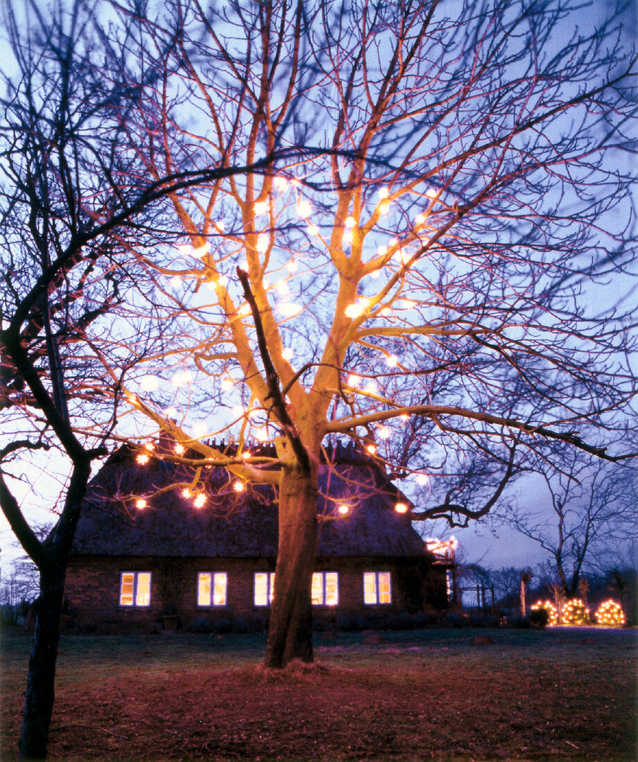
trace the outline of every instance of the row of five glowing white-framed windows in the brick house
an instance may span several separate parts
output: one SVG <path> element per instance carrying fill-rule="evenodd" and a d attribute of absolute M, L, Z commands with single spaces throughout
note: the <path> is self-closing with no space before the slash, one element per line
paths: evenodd
<path fill-rule="evenodd" d="M 150 571 L 123 571 L 120 578 L 120 606 L 150 606 L 150 588 Z M 227 589 L 226 571 L 198 572 L 197 605 L 199 607 L 225 606 Z M 255 606 L 269 606 L 275 591 L 275 572 L 256 571 L 253 591 Z M 312 575 L 311 598 L 314 606 L 338 606 L 339 572 L 315 571 Z M 374 606 L 391 602 L 390 572 L 364 571 L 363 603 Z"/>

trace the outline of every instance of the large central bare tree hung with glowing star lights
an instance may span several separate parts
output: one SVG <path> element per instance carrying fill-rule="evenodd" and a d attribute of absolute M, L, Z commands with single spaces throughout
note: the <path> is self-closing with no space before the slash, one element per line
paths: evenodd
<path fill-rule="evenodd" d="M 548 443 L 632 454 L 633 317 L 605 308 L 633 252 L 633 59 L 612 21 L 557 44 L 559 2 L 119 7 L 111 46 L 151 80 L 126 125 L 150 174 L 317 147 L 172 195 L 181 240 L 140 251 L 170 351 L 125 385 L 198 453 L 195 482 L 222 465 L 277 488 L 267 665 L 312 658 L 334 437 L 417 482 L 420 507 L 398 510 L 450 524 Z M 245 457 L 205 441 L 220 436 Z"/>

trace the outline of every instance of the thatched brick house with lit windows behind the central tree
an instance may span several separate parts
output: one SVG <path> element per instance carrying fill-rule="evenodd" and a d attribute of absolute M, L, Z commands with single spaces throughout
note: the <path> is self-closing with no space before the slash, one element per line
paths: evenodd
<path fill-rule="evenodd" d="M 437 562 L 372 459 L 337 447 L 320 466 L 314 620 L 446 607 L 449 563 Z M 140 462 L 141 461 L 141 462 Z M 397 510 L 398 506 L 398 510 Z M 118 633 L 162 626 L 261 629 L 272 602 L 277 504 L 270 487 L 237 490 L 224 469 L 192 472 L 127 447 L 82 505 L 66 574 L 66 620 Z"/>

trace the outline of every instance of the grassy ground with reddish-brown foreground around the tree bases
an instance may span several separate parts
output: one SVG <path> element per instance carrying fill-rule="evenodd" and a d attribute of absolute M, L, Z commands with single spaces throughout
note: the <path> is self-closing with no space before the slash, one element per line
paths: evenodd
<path fill-rule="evenodd" d="M 263 636 L 63 636 L 50 760 L 638 758 L 636 631 L 382 638 L 317 635 L 314 665 L 272 672 Z M 2 635 L 2 762 L 29 647 Z"/>

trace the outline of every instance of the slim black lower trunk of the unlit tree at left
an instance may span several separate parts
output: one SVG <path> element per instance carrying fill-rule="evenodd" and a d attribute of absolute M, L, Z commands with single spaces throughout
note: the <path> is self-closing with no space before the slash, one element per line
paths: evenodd
<path fill-rule="evenodd" d="M 57 648 L 64 575 L 40 575 L 40 597 L 34 603 L 35 632 L 29 656 L 27 690 L 18 750 L 21 760 L 41 760 L 47 756 L 49 725 L 53 712 Z"/>

